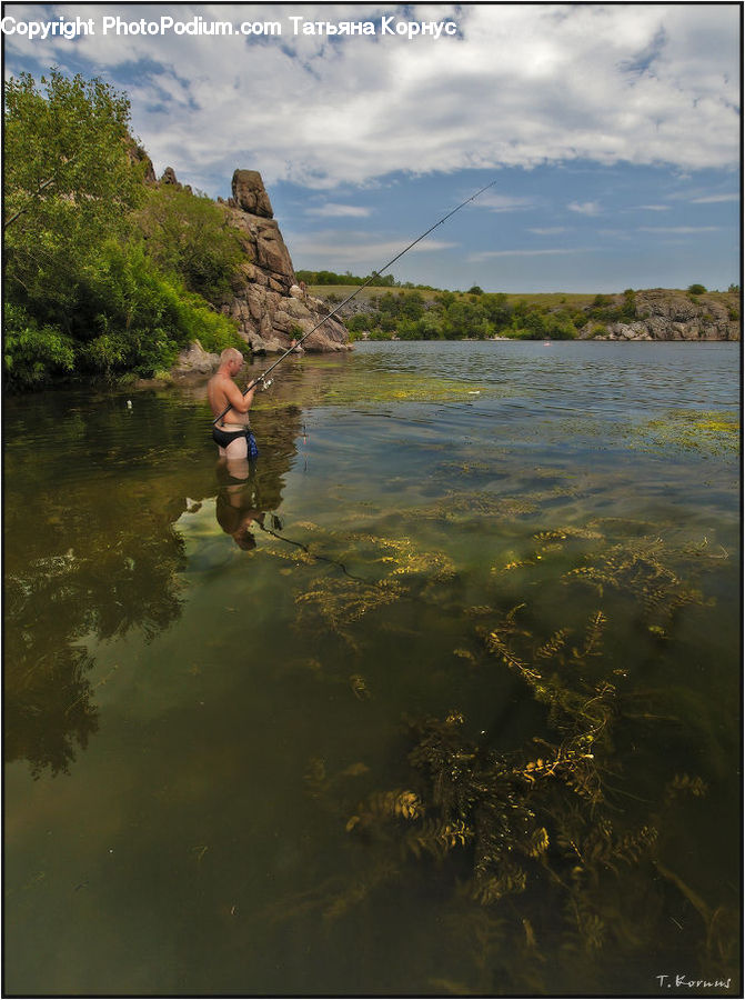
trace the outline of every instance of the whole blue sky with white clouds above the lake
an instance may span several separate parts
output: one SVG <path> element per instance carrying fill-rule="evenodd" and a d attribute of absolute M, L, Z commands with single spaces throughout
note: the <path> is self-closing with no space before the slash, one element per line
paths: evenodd
<path fill-rule="evenodd" d="M 6 76 L 50 66 L 129 93 L 157 172 L 212 197 L 259 170 L 295 268 L 489 291 L 739 281 L 739 6 L 7 3 Z M 231 36 L 103 33 L 104 18 Z M 295 19 L 293 21 L 293 18 Z M 453 34 L 383 33 L 452 22 Z M 194 22 L 193 19 L 202 19 Z M 302 20 L 301 20 L 302 19 Z M 371 21 L 372 36 L 304 33 Z M 281 33 L 240 33 L 278 22 Z M 294 32 L 295 26 L 298 33 Z M 401 30 L 401 29 L 400 29 Z"/>

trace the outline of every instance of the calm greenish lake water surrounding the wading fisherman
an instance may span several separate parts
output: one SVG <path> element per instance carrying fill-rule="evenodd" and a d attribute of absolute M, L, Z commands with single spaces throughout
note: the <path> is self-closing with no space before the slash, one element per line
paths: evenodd
<path fill-rule="evenodd" d="M 245 482 L 202 390 L 9 400 L 7 991 L 735 976 L 738 364 L 718 343 L 293 360 Z M 597 611 L 602 652 L 573 658 Z M 442 833 L 410 727 L 450 714 L 513 772 L 568 747 L 515 662 L 583 704 L 614 686 L 604 794 L 513 773 L 548 848 L 513 823 L 523 891 L 484 901 L 479 803 Z"/>

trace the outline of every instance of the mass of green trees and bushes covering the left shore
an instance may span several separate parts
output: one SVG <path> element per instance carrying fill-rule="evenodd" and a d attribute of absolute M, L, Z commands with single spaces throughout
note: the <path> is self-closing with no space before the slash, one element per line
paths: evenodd
<path fill-rule="evenodd" d="M 6 86 L 4 381 L 151 376 L 199 339 L 245 347 L 218 301 L 236 234 L 209 199 L 147 188 L 130 106 L 52 70 Z"/>

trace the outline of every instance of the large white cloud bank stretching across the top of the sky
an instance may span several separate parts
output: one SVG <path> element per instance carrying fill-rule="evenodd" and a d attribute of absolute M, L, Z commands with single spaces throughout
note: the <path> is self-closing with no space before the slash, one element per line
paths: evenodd
<path fill-rule="evenodd" d="M 100 22 L 111 4 L 7 4 L 14 17 Z M 120 8 L 114 8 L 119 11 Z M 236 166 L 318 190 L 392 171 L 455 171 L 590 159 L 738 163 L 735 4 L 463 4 L 397 8 L 446 20 L 460 37 L 290 33 L 306 20 L 380 23 L 393 8 L 354 4 L 128 4 L 122 17 L 278 20 L 281 38 L 6 38 L 11 71 L 81 66 L 132 96 L 134 129 L 158 172 L 212 189 Z M 692 140 L 695 137 L 695 141 Z M 495 210 L 527 208 L 512 199 Z"/>

